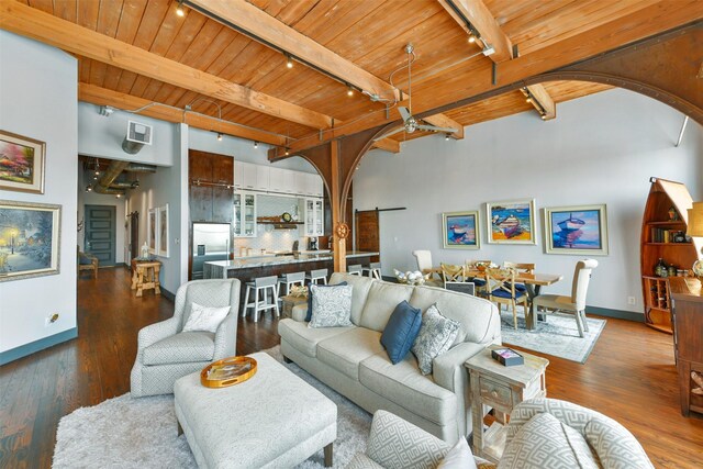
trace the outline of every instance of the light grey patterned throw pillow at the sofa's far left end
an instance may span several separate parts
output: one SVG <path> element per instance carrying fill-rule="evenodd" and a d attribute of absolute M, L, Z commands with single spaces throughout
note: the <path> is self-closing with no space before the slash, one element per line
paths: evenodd
<path fill-rule="evenodd" d="M 345 327 L 352 325 L 352 292 L 354 287 L 310 287 L 312 317 L 308 327 Z"/>

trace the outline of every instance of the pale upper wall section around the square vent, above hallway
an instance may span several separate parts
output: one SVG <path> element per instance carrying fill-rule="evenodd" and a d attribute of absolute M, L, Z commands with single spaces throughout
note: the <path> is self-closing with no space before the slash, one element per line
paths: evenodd
<path fill-rule="evenodd" d="M 100 115 L 100 107 L 87 102 L 78 103 L 78 153 L 123 161 L 140 161 L 148 165 L 171 166 L 176 147 L 175 124 L 143 115 L 115 111 L 110 116 Z M 152 125 L 152 145 L 144 145 L 140 153 L 130 155 L 122 149 L 127 134 L 127 122 L 136 121 Z"/>

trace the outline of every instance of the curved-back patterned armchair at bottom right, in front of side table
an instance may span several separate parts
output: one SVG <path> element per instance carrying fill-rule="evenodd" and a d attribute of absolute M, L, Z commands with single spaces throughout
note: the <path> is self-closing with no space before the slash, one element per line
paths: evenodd
<path fill-rule="evenodd" d="M 510 414 L 499 469 L 654 468 L 632 433 L 613 418 L 571 402 L 532 399 Z"/>

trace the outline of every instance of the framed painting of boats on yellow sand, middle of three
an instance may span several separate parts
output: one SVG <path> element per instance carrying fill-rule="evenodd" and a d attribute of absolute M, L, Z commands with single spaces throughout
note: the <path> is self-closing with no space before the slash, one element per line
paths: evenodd
<path fill-rule="evenodd" d="M 488 202 L 488 242 L 491 244 L 537 244 L 535 199 Z"/>

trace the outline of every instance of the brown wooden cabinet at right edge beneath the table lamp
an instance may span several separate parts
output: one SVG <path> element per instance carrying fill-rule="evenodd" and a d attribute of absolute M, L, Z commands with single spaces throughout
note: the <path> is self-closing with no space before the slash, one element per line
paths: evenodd
<path fill-rule="evenodd" d="M 703 387 L 691 373 L 703 378 L 703 297 L 701 282 L 691 277 L 671 277 L 673 355 L 679 372 L 681 414 L 703 414 Z"/>

